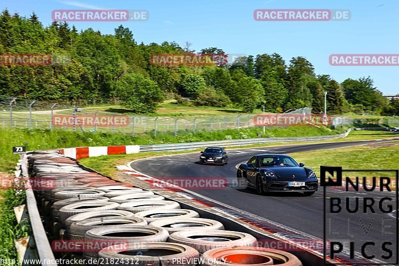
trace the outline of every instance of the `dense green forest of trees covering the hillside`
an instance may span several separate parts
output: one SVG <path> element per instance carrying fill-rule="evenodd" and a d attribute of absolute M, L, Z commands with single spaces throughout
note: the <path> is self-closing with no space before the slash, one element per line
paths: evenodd
<path fill-rule="evenodd" d="M 138 44 L 129 28 L 102 34 L 88 28 L 78 32 L 68 23 L 43 26 L 35 14 L 21 17 L 3 10 L 0 15 L 0 53 L 67 54 L 68 64 L 47 66 L 0 65 L 0 94 L 38 100 L 95 103 L 119 98 L 134 112 L 153 112 L 163 98 L 191 97 L 198 105 L 226 106 L 252 112 L 312 107 L 328 112 L 397 114 L 370 77 L 348 78 L 341 84 L 329 75 L 317 75 L 311 62 L 298 56 L 286 63 L 277 54 L 243 56 L 227 65 L 154 65 L 151 55 L 194 52 L 190 43 Z M 204 48 L 202 54 L 223 55 Z M 180 96 L 178 96 L 180 95 Z M 181 101 L 183 102 L 183 101 Z"/>

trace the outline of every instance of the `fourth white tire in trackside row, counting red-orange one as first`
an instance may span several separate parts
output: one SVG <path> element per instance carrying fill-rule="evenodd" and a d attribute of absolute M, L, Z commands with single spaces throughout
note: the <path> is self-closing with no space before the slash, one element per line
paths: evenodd
<path fill-rule="evenodd" d="M 172 210 L 150 210 L 144 212 L 138 212 L 135 214 L 136 217 L 143 218 L 147 222 L 154 222 L 159 219 L 164 218 L 199 218 L 200 215 L 193 210 L 185 210 L 185 209 L 172 209 Z"/>

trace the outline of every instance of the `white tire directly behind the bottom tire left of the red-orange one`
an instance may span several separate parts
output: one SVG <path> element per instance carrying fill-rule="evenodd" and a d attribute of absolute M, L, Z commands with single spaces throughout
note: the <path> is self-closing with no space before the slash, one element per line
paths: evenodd
<path fill-rule="evenodd" d="M 147 242 L 166 242 L 169 237 L 168 231 L 163 228 L 154 226 L 108 226 L 90 229 L 84 235 L 85 241 L 89 242 L 115 242 L 126 241 L 128 244 L 147 243 Z M 130 246 L 130 245 L 129 245 Z M 98 258 L 98 252 L 85 251 L 84 256 L 90 258 Z"/>

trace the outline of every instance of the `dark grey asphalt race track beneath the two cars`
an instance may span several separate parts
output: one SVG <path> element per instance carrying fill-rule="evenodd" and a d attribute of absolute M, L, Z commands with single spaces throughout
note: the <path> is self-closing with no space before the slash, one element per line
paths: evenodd
<path fill-rule="evenodd" d="M 373 141 L 379 143 L 384 141 Z M 229 161 L 227 165 L 200 165 L 198 163 L 200 153 L 187 153 L 181 155 L 168 155 L 158 158 L 148 158 L 135 161 L 131 167 L 141 173 L 156 178 L 215 178 L 215 177 L 236 177 L 236 165 L 247 161 L 251 156 L 256 154 L 289 154 L 295 152 L 306 152 L 313 150 L 326 149 L 325 156 L 334 152 L 334 148 L 342 148 L 349 146 L 357 146 L 369 144 L 371 142 L 355 141 L 355 142 L 334 142 L 334 143 L 318 143 L 318 144 L 299 144 L 284 146 L 268 146 L 263 148 L 243 148 L 243 149 L 227 149 Z M 295 159 L 295 154 L 292 155 Z M 356 160 L 356 158 L 354 158 Z M 299 163 L 299 162 L 298 162 Z M 196 189 L 194 192 L 206 196 L 210 199 L 228 204 L 237 209 L 255 214 L 260 217 L 267 218 L 273 222 L 288 226 L 299 232 L 304 232 L 317 238 L 323 238 L 323 188 L 319 188 L 311 197 L 305 197 L 302 193 L 273 193 L 267 196 L 259 196 L 255 190 L 245 189 L 237 190 L 233 188 L 225 189 Z M 334 194 L 345 193 L 346 196 L 359 196 L 357 192 L 343 192 L 339 189 L 329 189 L 327 194 L 333 197 Z M 341 194 L 342 195 L 342 194 Z M 386 194 L 384 194 L 386 195 Z M 390 196 L 395 198 L 395 193 L 391 192 Z M 374 196 L 381 198 L 379 192 L 370 192 L 366 196 Z M 362 203 L 361 205 L 362 206 Z M 395 208 L 395 205 L 394 205 Z M 340 214 L 339 218 L 334 220 L 331 225 L 331 231 L 339 232 L 348 230 L 358 240 L 375 240 L 383 241 L 390 238 L 381 232 L 381 223 L 385 223 L 381 219 L 387 219 L 387 223 L 395 224 L 395 217 L 381 215 L 376 219 L 367 234 L 364 233 L 364 226 L 369 225 L 369 221 L 353 221 L 354 216 L 346 212 Z M 351 219 L 351 222 L 348 222 Z M 362 227 L 361 223 L 364 223 Z M 394 230 L 394 229 L 391 229 Z M 348 231 L 349 232 L 349 231 Z M 358 248 L 356 248 L 358 250 Z M 381 258 L 377 258 L 380 259 Z"/>

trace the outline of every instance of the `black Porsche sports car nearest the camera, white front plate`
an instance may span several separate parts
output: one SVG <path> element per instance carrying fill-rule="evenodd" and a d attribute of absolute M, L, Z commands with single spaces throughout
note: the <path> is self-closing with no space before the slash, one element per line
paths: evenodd
<path fill-rule="evenodd" d="M 303 192 L 313 195 L 319 182 L 312 169 L 298 164 L 288 155 L 263 154 L 253 156 L 238 167 L 237 179 L 247 179 L 248 187 L 255 188 L 262 195 L 266 192 Z"/>

